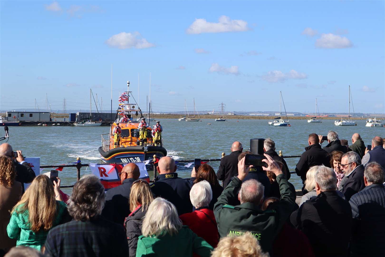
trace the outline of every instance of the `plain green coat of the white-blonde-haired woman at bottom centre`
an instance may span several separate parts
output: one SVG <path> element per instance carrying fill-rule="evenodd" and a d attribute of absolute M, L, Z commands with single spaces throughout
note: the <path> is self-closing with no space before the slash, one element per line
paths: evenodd
<path fill-rule="evenodd" d="M 187 226 L 182 226 L 176 235 L 162 233 L 158 237 L 140 236 L 136 256 L 192 256 L 192 252 L 202 257 L 210 257 L 213 247 L 198 237 Z"/>

